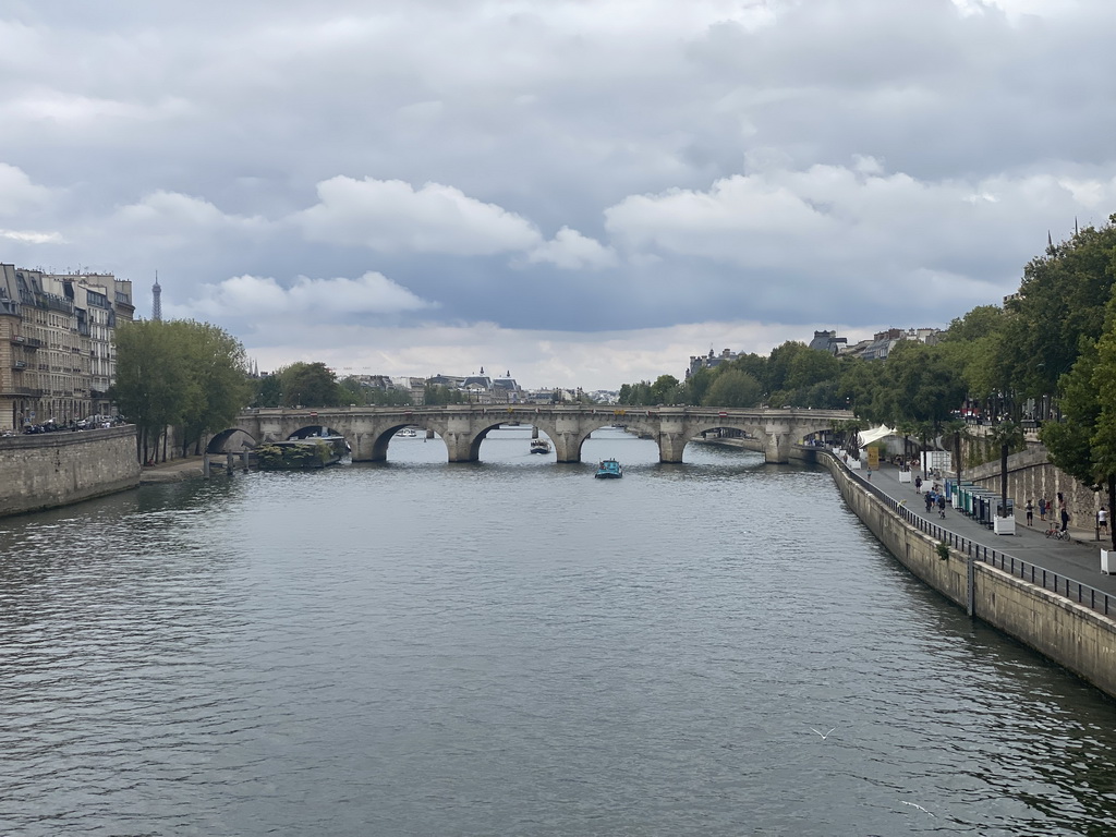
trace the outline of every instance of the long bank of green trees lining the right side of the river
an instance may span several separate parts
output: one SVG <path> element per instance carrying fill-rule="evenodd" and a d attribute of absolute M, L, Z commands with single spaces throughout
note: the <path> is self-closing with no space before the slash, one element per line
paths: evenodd
<path fill-rule="evenodd" d="M 785 343 L 685 381 L 626 384 L 625 404 L 849 408 L 867 423 L 960 446 L 961 411 L 993 424 L 1002 458 L 1040 425 L 1056 465 L 1116 502 L 1116 214 L 1024 267 L 1003 306 L 955 318 L 934 345 L 904 340 L 885 362 L 834 357 Z M 960 459 L 960 458 L 959 458 Z M 1006 471 L 1006 469 L 1004 469 Z M 1116 548 L 1116 527 L 1113 532 Z"/>

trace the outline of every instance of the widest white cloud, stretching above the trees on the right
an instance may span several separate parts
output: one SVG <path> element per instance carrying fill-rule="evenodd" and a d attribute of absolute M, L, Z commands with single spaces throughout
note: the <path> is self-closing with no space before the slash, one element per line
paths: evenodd
<path fill-rule="evenodd" d="M 821 266 L 830 275 L 867 279 L 885 264 L 895 279 L 916 276 L 927 262 L 964 262 L 973 248 L 988 248 L 989 237 L 1000 248 L 1022 243 L 1041 229 L 1041 221 L 1038 228 L 1026 224 L 1029 210 L 1022 209 L 1037 202 L 1046 213 L 1069 217 L 1075 206 L 1116 205 L 1112 179 L 921 181 L 884 174 L 878 163 L 865 161 L 768 167 L 719 180 L 705 191 L 633 195 L 606 210 L 606 225 L 617 246 L 635 252 L 780 268 L 810 281 Z"/>

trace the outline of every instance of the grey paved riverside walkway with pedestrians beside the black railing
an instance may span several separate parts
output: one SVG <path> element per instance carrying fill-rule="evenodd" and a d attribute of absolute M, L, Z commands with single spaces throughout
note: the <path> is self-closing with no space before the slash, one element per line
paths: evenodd
<path fill-rule="evenodd" d="M 852 473 L 862 481 L 867 479 L 867 474 L 863 470 Z M 1033 564 L 1036 567 L 1042 567 L 1075 581 L 1096 587 L 1098 590 L 1116 594 L 1116 576 L 1107 576 L 1100 571 L 1100 548 L 1112 548 L 1110 535 L 1101 533 L 1100 541 L 1097 541 L 1094 529 L 1085 530 L 1071 526 L 1069 527 L 1070 540 L 1047 538 L 1045 532 L 1050 526 L 1049 519 L 1045 522 L 1039 520 L 1038 509 L 1036 509 L 1035 526 L 1028 528 L 1023 522 L 1026 512 L 1019 507 L 1016 509 L 1016 535 L 995 535 L 991 529 L 950 507 L 945 509 L 944 520 L 939 517 L 937 509 L 926 513 L 926 504 L 922 494 L 914 490 L 914 483 L 899 482 L 898 469 L 894 465 L 883 465 L 878 471 L 873 471 L 872 484 L 896 501 L 905 501 L 907 508 L 917 517 L 936 523 L 962 538 L 968 538 L 974 543 L 995 549 L 998 552 L 1006 552 L 1028 564 Z M 1049 517 L 1047 514 L 1047 518 Z"/>

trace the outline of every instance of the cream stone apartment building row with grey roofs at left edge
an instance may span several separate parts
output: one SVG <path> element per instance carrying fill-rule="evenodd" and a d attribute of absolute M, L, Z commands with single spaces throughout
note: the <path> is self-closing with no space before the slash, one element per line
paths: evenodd
<path fill-rule="evenodd" d="M 0 263 L 0 431 L 109 412 L 113 334 L 133 318 L 132 282 Z"/>

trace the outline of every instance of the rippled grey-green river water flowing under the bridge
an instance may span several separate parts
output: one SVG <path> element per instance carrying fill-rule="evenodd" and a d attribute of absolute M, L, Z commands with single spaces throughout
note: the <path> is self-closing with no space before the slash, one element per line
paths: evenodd
<path fill-rule="evenodd" d="M 1116 833 L 1113 702 L 828 473 L 528 436 L 0 521 L 0 834 Z"/>

